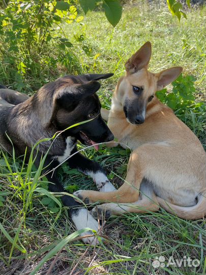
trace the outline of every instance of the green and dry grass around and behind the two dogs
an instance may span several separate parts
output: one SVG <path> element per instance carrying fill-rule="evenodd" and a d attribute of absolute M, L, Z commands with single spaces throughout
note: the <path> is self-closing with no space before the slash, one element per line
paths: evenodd
<path fill-rule="evenodd" d="M 194 8 L 187 14 L 188 20 L 182 19 L 179 24 L 162 4 L 137 2 L 124 6 L 123 18 L 115 29 L 100 11 L 87 15 L 83 25 L 65 26 L 73 43 L 74 35 L 85 36 L 81 45 L 76 42 L 72 48 L 83 73 L 114 72 L 112 78 L 102 81 L 99 95 L 104 106 L 109 107 L 111 92 L 124 71 L 125 61 L 147 40 L 153 45 L 151 70 L 183 66 L 184 74 L 193 74 L 197 79 L 197 101 L 205 99 L 206 9 Z M 37 80 L 31 79 L 32 86 L 39 85 Z M 26 83 L 28 86 L 30 82 Z M 204 117 L 202 112 L 195 120 L 194 112 L 188 109 L 184 118 L 203 143 Z M 99 152 L 87 149 L 84 153 L 104 167 L 116 187 L 121 185 L 129 151 L 102 147 Z M 45 178 L 39 180 L 39 172 L 32 167 L 32 160 L 25 164 L 1 154 L 0 274 L 30 274 L 41 261 L 44 264 L 37 274 L 205 274 L 205 219 L 184 221 L 164 210 L 111 217 L 104 227 L 107 241 L 91 247 L 76 239 L 77 235 L 71 235 L 75 228 L 65 207 L 55 201 L 57 196 L 49 197 L 50 193 L 43 191 L 47 183 Z M 59 176 L 71 193 L 79 188 L 95 189 L 91 178 L 65 164 Z M 198 259 L 200 265 L 154 268 L 152 262 L 160 256 L 166 258 L 165 263 L 170 256 L 174 260 L 186 256 Z"/>

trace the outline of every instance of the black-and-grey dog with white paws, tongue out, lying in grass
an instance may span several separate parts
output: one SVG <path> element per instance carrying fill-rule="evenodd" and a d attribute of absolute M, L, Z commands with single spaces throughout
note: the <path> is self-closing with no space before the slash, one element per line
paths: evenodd
<path fill-rule="evenodd" d="M 15 155 L 25 154 L 27 147 L 28 157 L 32 146 L 39 140 L 52 137 L 56 132 L 63 131 L 76 123 L 89 120 L 63 131 L 56 139 L 41 142 L 38 147 L 35 166 L 39 167 L 42 154 L 49 152 L 44 162 L 45 171 L 52 171 L 71 154 L 77 152 L 77 140 L 84 145 L 113 140 L 114 136 L 103 121 L 100 109 L 101 104 L 96 92 L 100 88 L 99 79 L 105 79 L 113 74 L 83 74 L 66 75 L 43 86 L 32 97 L 25 94 L 0 88 L 0 146 L 2 150 L 12 153 L 12 144 Z M 97 163 L 80 152 L 67 160 L 70 168 L 76 168 L 89 175 L 96 182 L 100 191 L 111 191 L 115 188 L 107 179 L 104 170 Z M 56 171 L 56 170 L 55 170 Z M 58 180 L 56 172 L 47 175 L 49 190 L 63 192 L 64 187 Z M 94 217 L 77 203 L 71 196 L 61 197 L 65 206 L 69 207 L 69 215 L 77 230 L 91 228 L 98 231 L 98 222 Z M 82 236 L 93 234 L 85 232 Z M 85 243 L 94 243 L 93 236 L 83 238 Z"/>

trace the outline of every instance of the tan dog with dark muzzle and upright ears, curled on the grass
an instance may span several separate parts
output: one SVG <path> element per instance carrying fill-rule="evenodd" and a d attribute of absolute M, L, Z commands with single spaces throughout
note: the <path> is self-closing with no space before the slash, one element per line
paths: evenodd
<path fill-rule="evenodd" d="M 206 214 L 206 154 L 195 134 L 156 97 L 182 72 L 172 67 L 148 71 L 152 47 L 146 42 L 126 62 L 110 111 L 102 109 L 118 142 L 129 146 L 127 176 L 117 190 L 78 190 L 75 196 L 93 203 L 94 217 L 125 212 L 158 211 L 160 207 L 185 219 Z"/>

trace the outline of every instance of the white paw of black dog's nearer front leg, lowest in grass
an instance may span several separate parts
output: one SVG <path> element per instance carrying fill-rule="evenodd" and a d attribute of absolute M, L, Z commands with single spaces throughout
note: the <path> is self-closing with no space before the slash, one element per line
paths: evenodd
<path fill-rule="evenodd" d="M 94 217 L 90 214 L 89 211 L 87 211 L 85 208 L 81 208 L 77 215 L 72 216 L 72 221 L 74 222 L 76 229 L 80 230 L 83 228 L 91 228 L 92 230 L 95 230 L 98 232 L 99 230 L 99 224 L 94 219 Z M 96 244 L 99 243 L 96 236 L 92 231 L 86 231 L 82 233 L 80 236 L 86 236 L 86 235 L 93 235 L 91 237 L 82 238 L 82 241 L 85 243 L 91 243 Z"/>

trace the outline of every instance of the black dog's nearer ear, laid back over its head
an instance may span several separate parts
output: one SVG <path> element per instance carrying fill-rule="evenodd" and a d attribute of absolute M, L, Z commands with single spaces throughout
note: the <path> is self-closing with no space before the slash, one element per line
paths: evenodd
<path fill-rule="evenodd" d="M 98 81 L 90 81 L 75 86 L 66 86 L 56 94 L 56 103 L 63 108 L 70 109 L 75 103 L 95 94 L 100 87 L 101 84 Z"/>

